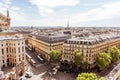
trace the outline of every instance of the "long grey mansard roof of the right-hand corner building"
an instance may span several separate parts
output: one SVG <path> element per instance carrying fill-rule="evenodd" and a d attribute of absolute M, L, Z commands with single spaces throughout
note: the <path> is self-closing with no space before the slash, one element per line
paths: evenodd
<path fill-rule="evenodd" d="M 65 41 L 65 43 L 71 44 L 84 44 L 84 45 L 91 45 L 91 44 L 98 44 L 100 42 L 105 42 L 113 39 L 120 39 L 120 34 L 118 33 L 109 33 L 109 34 L 102 34 L 102 35 L 91 35 L 87 37 L 72 37 Z"/>

